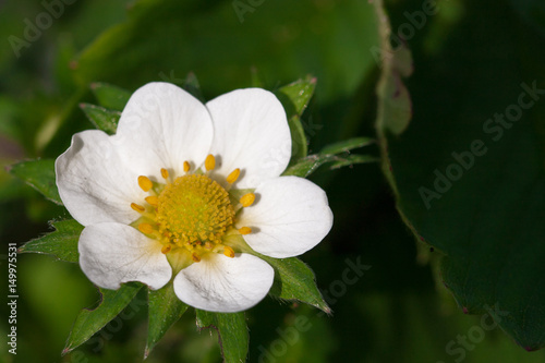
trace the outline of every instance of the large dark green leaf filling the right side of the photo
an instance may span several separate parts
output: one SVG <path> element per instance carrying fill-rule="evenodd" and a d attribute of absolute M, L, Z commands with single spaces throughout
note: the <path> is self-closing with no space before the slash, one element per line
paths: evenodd
<path fill-rule="evenodd" d="M 506 4 L 464 11 L 441 58 L 415 59 L 426 72 L 411 80 L 408 129 L 379 113 L 384 171 L 407 225 L 445 255 L 443 282 L 463 311 L 491 312 L 535 350 L 545 346 L 545 43 Z M 410 66 L 395 60 L 383 81 Z M 379 88 L 379 109 L 408 105 L 403 88 Z M 407 113 L 390 117 L 408 125 Z"/>

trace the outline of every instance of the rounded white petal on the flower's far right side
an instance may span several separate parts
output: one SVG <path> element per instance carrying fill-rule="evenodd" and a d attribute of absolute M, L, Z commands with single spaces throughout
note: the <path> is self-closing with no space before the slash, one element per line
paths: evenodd
<path fill-rule="evenodd" d="M 246 243 L 264 255 L 298 256 L 318 244 L 329 232 L 334 216 L 326 193 L 298 177 L 280 177 L 255 190 L 256 202 L 243 209 L 237 227 L 251 227 Z"/>

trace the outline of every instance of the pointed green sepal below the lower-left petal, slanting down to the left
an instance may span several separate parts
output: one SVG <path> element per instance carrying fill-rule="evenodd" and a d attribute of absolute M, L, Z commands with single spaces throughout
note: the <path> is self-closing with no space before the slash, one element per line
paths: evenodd
<path fill-rule="evenodd" d="M 142 287 L 142 283 L 129 282 L 122 285 L 118 290 L 99 289 L 100 303 L 94 310 L 84 308 L 80 312 L 62 354 L 74 350 L 104 328 L 129 305 Z"/>

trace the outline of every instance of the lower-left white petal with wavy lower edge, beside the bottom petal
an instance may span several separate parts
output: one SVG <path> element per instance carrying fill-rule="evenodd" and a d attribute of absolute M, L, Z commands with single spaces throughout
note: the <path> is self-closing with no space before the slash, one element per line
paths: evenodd
<path fill-rule="evenodd" d="M 129 226 L 93 225 L 85 227 L 80 237 L 80 266 L 89 280 L 105 289 L 141 281 L 157 290 L 172 276 L 161 246 Z"/>

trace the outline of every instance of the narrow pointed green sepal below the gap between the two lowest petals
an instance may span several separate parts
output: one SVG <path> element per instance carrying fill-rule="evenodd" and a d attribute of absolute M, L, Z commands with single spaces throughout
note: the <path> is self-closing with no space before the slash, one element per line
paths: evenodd
<path fill-rule="evenodd" d="M 149 290 L 148 299 L 149 326 L 147 329 L 147 343 L 144 351 L 144 359 L 149 355 L 167 330 L 178 322 L 187 310 L 187 305 L 181 302 L 175 295 L 172 282 L 169 282 L 159 290 Z"/>

